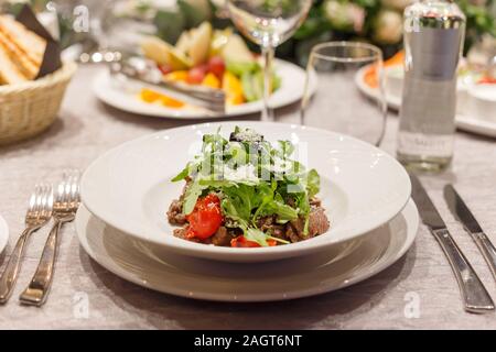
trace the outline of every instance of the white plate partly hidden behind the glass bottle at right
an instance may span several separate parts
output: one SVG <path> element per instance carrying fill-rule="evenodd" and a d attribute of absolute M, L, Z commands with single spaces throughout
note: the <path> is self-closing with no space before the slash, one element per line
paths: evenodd
<path fill-rule="evenodd" d="M 365 66 L 357 72 L 355 76 L 355 84 L 365 96 L 369 98 L 376 98 L 377 90 L 369 87 L 364 79 L 367 68 L 368 67 Z M 401 107 L 401 97 L 387 91 L 386 102 L 389 108 L 399 110 Z M 496 138 L 496 123 L 494 122 L 477 119 L 476 117 L 470 117 L 466 113 L 464 114 L 457 113 L 455 117 L 455 122 L 456 127 L 460 130 L 482 134 L 485 136 Z"/>

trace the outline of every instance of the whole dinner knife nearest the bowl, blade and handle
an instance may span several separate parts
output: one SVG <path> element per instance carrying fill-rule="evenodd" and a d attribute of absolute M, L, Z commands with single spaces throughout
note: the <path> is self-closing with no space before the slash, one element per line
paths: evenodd
<path fill-rule="evenodd" d="M 493 299 L 468 263 L 468 260 L 451 237 L 446 224 L 429 198 L 419 178 L 410 174 L 410 179 L 412 184 L 412 198 L 419 208 L 422 222 L 429 228 L 429 231 L 441 245 L 450 262 L 459 283 L 465 310 L 477 314 L 494 310 Z"/>

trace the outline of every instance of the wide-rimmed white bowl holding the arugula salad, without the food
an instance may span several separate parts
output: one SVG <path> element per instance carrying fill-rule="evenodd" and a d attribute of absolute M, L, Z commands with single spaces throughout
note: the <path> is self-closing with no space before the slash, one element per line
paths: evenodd
<path fill-rule="evenodd" d="M 172 235 L 165 211 L 183 183 L 170 179 L 202 146 L 205 133 L 228 136 L 236 125 L 252 128 L 267 141 L 291 140 L 296 160 L 321 175 L 331 221 L 322 235 L 274 248 L 233 249 Z M 91 213 L 137 239 L 183 254 L 229 262 L 279 260 L 325 250 L 392 219 L 407 204 L 411 184 L 405 168 L 375 146 L 325 130 L 282 123 L 238 121 L 164 130 L 125 143 L 95 161 L 82 178 L 82 200 Z"/>

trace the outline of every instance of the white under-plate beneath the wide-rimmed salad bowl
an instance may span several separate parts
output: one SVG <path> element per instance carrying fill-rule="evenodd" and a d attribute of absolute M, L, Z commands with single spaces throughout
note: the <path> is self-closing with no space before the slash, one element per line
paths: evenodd
<path fill-rule="evenodd" d="M 220 301 L 293 299 L 356 284 L 399 260 L 413 243 L 418 227 L 419 213 L 409 201 L 390 222 L 352 240 L 353 245 L 341 243 L 317 255 L 270 263 L 226 265 L 172 252 L 153 255 L 85 207 L 76 217 L 83 249 L 117 276 L 161 293 Z"/>

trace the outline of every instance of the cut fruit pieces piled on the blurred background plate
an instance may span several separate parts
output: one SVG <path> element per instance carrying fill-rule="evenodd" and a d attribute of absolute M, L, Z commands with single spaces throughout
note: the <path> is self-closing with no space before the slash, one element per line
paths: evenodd
<path fill-rule="evenodd" d="M 158 65 L 164 80 L 222 89 L 226 94 L 227 107 L 263 97 L 260 58 L 230 28 L 214 30 L 209 22 L 204 22 L 183 32 L 175 45 L 158 36 L 147 36 L 141 43 L 141 51 Z M 272 91 L 280 86 L 280 77 L 273 74 Z M 185 102 L 150 88 L 142 88 L 139 98 L 172 109 L 187 108 Z"/>

